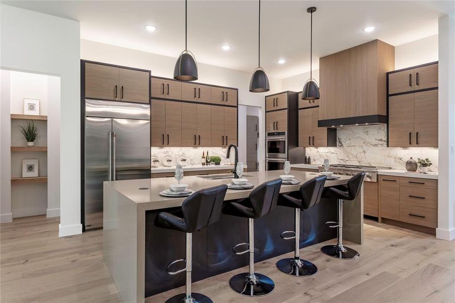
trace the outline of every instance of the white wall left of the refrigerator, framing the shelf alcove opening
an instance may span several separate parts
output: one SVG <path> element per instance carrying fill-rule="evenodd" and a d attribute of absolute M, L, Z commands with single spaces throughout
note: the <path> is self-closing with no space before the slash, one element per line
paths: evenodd
<path fill-rule="evenodd" d="M 80 24 L 1 5 L 1 68 L 61 77 L 60 236 L 80 224 Z"/>

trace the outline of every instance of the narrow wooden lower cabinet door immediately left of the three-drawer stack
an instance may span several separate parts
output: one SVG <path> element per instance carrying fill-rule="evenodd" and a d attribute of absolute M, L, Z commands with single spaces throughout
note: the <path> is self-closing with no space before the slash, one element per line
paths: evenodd
<path fill-rule="evenodd" d="M 399 177 L 380 176 L 381 217 L 399 220 Z"/>

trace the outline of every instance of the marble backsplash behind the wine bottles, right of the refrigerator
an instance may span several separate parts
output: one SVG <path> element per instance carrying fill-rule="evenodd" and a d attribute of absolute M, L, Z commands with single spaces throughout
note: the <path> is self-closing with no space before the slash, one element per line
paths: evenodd
<path fill-rule="evenodd" d="M 234 150 L 231 150 L 231 159 L 226 160 L 226 147 L 150 147 L 150 155 L 152 161 L 154 157 L 160 161 L 159 167 L 163 167 L 163 162 L 166 157 L 170 157 L 173 160 L 173 166 L 176 165 L 178 159 L 184 156 L 187 159 L 187 165 L 200 165 L 202 152 L 207 156 L 207 150 L 209 150 L 210 156 L 219 156 L 221 158 L 221 164 L 230 164 L 230 160 L 234 161 Z"/>

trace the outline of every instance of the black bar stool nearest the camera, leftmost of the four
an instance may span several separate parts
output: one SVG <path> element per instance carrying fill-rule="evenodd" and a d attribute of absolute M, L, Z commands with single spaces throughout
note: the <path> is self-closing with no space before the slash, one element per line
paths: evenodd
<path fill-rule="evenodd" d="M 166 268 L 168 274 L 170 275 L 176 275 L 186 271 L 185 293 L 177 294 L 171 297 L 166 301 L 166 303 L 213 303 L 208 296 L 191 292 L 191 235 L 192 232 L 209 226 L 220 219 L 226 190 L 227 185 L 198 190 L 183 201 L 181 211 L 174 214 L 161 212 L 155 219 L 155 225 L 158 227 L 178 230 L 186 233 L 185 259 L 176 260 L 170 263 Z M 185 268 L 176 272 L 171 272 L 169 268 L 179 262 L 185 262 Z"/>

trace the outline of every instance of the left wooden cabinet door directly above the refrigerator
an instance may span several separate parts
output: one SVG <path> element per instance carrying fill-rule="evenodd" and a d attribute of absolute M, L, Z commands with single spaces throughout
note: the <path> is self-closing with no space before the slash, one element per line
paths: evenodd
<path fill-rule="evenodd" d="M 120 99 L 119 68 L 86 63 L 85 97 L 108 100 Z"/>

